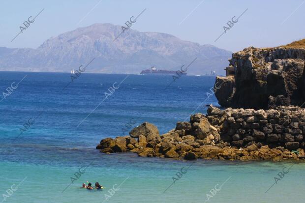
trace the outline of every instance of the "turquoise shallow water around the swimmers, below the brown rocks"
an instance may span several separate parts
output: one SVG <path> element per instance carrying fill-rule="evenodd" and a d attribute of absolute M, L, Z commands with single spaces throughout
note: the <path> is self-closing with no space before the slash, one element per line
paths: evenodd
<path fill-rule="evenodd" d="M 82 152 L 81 152 L 82 153 Z M 182 167 L 187 168 L 192 162 L 172 161 L 158 158 L 139 158 L 134 154 L 100 155 L 93 151 L 91 158 L 98 156 L 97 162 L 68 187 L 70 177 L 88 163 L 80 160 L 79 166 L 46 166 L 30 163 L 1 162 L 0 191 L 5 191 L 11 184 L 27 179 L 7 202 L 33 203 L 70 203 L 70 202 L 205 202 L 211 189 L 223 184 L 210 201 L 214 203 L 301 203 L 304 199 L 304 164 L 294 165 L 290 172 L 274 183 L 274 176 L 283 167 L 291 163 L 241 163 L 223 161 L 203 161 L 194 163 L 178 179 Z M 185 172 L 183 170 L 183 172 Z M 181 175 L 180 175 L 181 176 Z M 165 193 L 164 191 L 173 183 Z M 127 179 L 126 179 L 127 178 Z M 106 188 L 102 191 L 88 191 L 79 188 L 86 180 L 101 182 Z M 123 182 L 125 180 L 125 182 Z M 118 188 L 106 201 L 105 194 L 113 193 L 109 189 Z"/>

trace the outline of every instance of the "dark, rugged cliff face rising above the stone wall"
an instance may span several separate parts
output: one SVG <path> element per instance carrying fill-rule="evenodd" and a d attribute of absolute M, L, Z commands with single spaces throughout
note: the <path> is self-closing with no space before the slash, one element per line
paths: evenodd
<path fill-rule="evenodd" d="M 223 107 L 270 109 L 305 102 L 305 48 L 249 47 L 232 54 L 215 92 Z"/>

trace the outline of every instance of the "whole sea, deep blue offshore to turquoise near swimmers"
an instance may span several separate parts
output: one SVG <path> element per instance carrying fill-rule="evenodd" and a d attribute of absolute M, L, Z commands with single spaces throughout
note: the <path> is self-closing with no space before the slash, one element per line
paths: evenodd
<path fill-rule="evenodd" d="M 215 77 L 0 72 L 0 203 L 303 203 L 305 163 L 104 154 L 147 121 L 160 134 L 219 107 Z M 219 107 L 221 108 L 221 107 Z M 81 188 L 99 182 L 102 190 Z"/>

